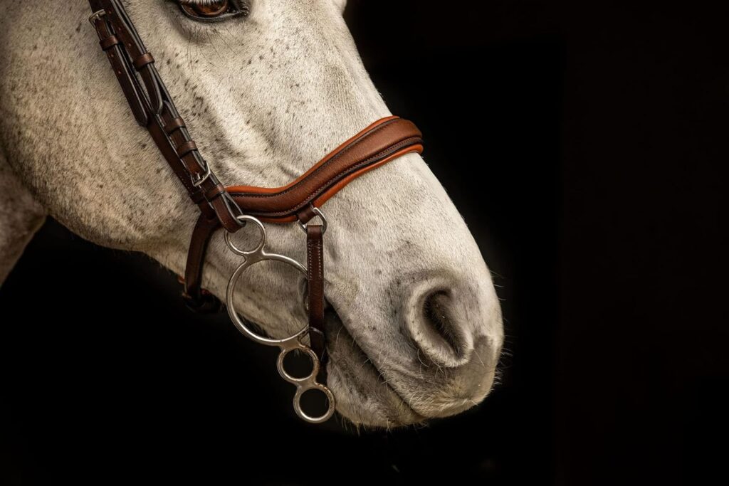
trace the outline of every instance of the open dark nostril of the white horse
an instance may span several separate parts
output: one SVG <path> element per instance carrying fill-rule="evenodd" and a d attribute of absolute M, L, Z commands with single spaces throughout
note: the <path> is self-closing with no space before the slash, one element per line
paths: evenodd
<path fill-rule="evenodd" d="M 472 337 L 465 330 L 465 316 L 450 291 L 432 291 L 422 300 L 421 313 L 410 321 L 410 334 L 426 356 L 444 367 L 468 361 Z"/>

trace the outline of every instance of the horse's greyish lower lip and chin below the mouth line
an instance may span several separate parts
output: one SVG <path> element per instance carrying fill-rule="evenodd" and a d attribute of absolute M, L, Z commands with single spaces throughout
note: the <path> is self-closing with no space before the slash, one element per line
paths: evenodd
<path fill-rule="evenodd" d="M 327 386 L 337 411 L 355 426 L 393 428 L 426 420 L 383 380 L 336 313 L 327 313 Z"/>

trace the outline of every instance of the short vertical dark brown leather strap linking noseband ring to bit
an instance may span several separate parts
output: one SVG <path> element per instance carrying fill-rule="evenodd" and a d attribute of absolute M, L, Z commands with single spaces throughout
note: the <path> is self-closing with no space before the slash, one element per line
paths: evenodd
<path fill-rule="evenodd" d="M 324 227 L 306 225 L 306 279 L 308 282 L 309 340 L 324 361 Z"/>

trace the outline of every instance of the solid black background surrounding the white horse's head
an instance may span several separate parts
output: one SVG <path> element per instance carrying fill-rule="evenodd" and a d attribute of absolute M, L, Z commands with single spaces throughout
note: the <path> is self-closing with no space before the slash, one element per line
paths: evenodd
<path fill-rule="evenodd" d="M 709 484 L 729 432 L 728 14 L 351 1 L 496 274 L 502 385 L 426 427 L 308 426 L 275 350 L 188 313 L 147 257 L 49 222 L 0 290 L 23 316 L 0 326 L 0 483 Z"/>

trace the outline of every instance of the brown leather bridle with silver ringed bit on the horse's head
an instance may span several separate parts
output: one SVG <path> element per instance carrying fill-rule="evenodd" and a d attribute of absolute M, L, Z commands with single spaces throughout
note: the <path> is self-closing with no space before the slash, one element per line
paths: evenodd
<path fill-rule="evenodd" d="M 202 312 L 217 311 L 221 307 L 216 297 L 203 290 L 202 277 L 208 242 L 214 232 L 223 228 L 228 246 L 235 254 L 245 258 L 228 284 L 226 304 L 230 318 L 243 334 L 253 340 L 281 348 L 278 371 L 284 379 L 297 386 L 294 397 L 297 415 L 313 423 L 327 420 L 334 412 L 334 396 L 326 386 L 316 381 L 319 362 L 326 358 L 323 235 L 327 230 L 327 220 L 320 208 L 340 189 L 367 171 L 402 154 L 421 152 L 420 130 L 412 122 L 399 117 L 379 119 L 284 187 L 225 187 L 190 137 L 184 120 L 155 68 L 155 59 L 144 47 L 121 1 L 89 0 L 89 4 L 93 12 L 90 23 L 98 34 L 101 49 L 112 64 L 136 122 L 147 128 L 168 165 L 187 189 L 190 199 L 200 209 L 190 239 L 183 281 L 183 297 L 187 306 Z M 316 216 L 321 219 L 321 224 L 311 223 Z M 265 251 L 265 227 L 262 222 L 298 222 L 301 225 L 307 240 L 306 267 L 286 256 Z M 230 235 L 246 223 L 254 224 L 261 232 L 260 243 L 249 251 L 241 250 L 230 240 Z M 265 260 L 290 264 L 304 273 L 308 281 L 308 326 L 283 340 L 256 334 L 235 312 L 235 283 L 250 266 Z M 307 334 L 311 348 L 303 342 Z M 292 377 L 284 369 L 284 356 L 294 349 L 303 350 L 311 356 L 313 370 L 308 377 Z M 326 393 L 329 400 L 327 412 L 320 417 L 306 415 L 299 404 L 301 395 L 312 388 Z"/>

